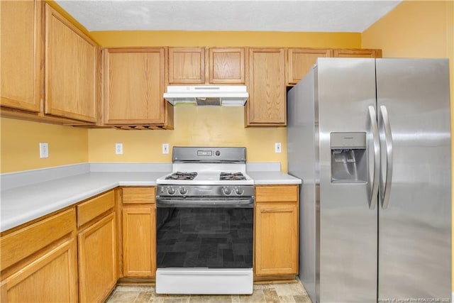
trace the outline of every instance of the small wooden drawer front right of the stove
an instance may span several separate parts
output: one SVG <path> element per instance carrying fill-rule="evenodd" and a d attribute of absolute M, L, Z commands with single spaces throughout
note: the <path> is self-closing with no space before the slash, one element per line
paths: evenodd
<path fill-rule="evenodd" d="M 298 185 L 256 186 L 255 202 L 297 202 Z"/>

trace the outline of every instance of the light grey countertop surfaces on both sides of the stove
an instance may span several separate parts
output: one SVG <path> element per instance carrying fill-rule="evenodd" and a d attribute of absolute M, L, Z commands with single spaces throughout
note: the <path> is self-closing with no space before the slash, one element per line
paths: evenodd
<path fill-rule="evenodd" d="M 118 186 L 153 186 L 169 172 L 86 172 L 1 191 L 0 231 L 106 192 Z M 247 172 L 255 184 L 301 184 L 282 172 Z"/>

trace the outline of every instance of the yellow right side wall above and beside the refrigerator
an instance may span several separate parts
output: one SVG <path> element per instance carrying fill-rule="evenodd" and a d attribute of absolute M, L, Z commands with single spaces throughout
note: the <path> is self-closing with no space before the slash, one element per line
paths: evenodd
<path fill-rule="evenodd" d="M 451 133 L 454 133 L 453 6 L 453 1 L 404 1 L 362 33 L 362 47 L 381 48 L 383 57 L 449 58 Z M 451 141 L 451 150 L 454 152 L 454 141 Z M 454 163 L 454 154 L 451 155 L 451 163 Z M 454 238 L 452 243 L 454 251 Z M 452 281 L 454 292 L 454 275 Z"/>

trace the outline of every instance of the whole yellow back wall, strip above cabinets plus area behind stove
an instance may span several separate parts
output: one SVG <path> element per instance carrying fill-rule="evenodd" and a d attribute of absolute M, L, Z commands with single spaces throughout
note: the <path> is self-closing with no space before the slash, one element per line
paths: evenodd
<path fill-rule="evenodd" d="M 360 33 L 91 32 L 101 46 L 293 46 L 360 48 Z M 175 107 L 174 131 L 89 130 L 90 162 L 171 162 L 162 155 L 162 143 L 175 145 L 245 146 L 248 161 L 281 162 L 287 172 L 287 131 L 283 127 L 244 128 L 244 108 Z M 282 153 L 275 153 L 275 143 Z M 123 155 L 115 155 L 123 143 Z"/>

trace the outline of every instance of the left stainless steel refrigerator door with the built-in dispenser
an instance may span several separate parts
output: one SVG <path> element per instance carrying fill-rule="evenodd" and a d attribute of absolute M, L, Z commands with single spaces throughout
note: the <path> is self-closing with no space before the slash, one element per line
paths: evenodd
<path fill-rule="evenodd" d="M 320 58 L 317 72 L 316 301 L 377 302 L 377 197 L 371 204 L 369 177 L 375 60 Z"/>

